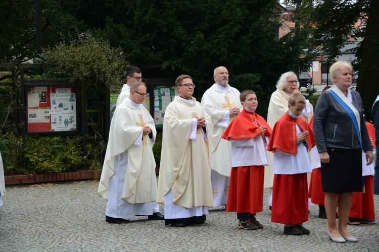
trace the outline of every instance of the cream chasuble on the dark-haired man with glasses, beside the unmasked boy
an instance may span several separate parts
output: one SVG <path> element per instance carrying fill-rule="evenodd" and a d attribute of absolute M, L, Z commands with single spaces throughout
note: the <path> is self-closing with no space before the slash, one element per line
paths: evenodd
<path fill-rule="evenodd" d="M 172 203 L 188 209 L 213 206 L 209 141 L 202 130 L 196 140 L 189 139 L 194 114 L 205 118 L 208 139 L 213 127 L 204 108 L 192 99 L 194 103 L 189 103 L 176 96 L 166 108 L 157 196 L 157 202 L 164 204 L 171 190 Z"/>

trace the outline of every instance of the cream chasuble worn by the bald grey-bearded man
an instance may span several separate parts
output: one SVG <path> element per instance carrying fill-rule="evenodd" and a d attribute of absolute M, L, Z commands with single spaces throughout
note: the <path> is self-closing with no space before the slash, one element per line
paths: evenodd
<path fill-rule="evenodd" d="M 212 160 L 211 168 L 223 176 L 230 177 L 231 170 L 231 145 L 229 141 L 222 139 L 221 136 L 226 130 L 226 127 L 218 127 L 216 124 L 223 118 L 225 112 L 231 107 L 241 109 L 240 92 L 228 86 L 226 92 L 222 92 L 217 88 L 218 84 L 213 84 L 203 95 L 201 104 L 205 111 L 211 117 L 213 125 L 212 136 Z M 234 119 L 234 116 L 229 117 L 229 123 Z"/>

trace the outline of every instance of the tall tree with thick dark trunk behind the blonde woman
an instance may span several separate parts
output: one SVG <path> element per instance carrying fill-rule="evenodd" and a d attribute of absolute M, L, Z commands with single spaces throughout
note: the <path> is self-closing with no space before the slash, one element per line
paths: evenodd
<path fill-rule="evenodd" d="M 371 105 L 379 93 L 379 1 L 303 0 L 300 16 L 301 24 L 312 29 L 311 44 L 328 55 L 327 62 L 341 55 L 351 38 L 363 38 L 355 49 L 356 89 L 370 118 Z M 365 25 L 354 26 L 358 20 Z"/>

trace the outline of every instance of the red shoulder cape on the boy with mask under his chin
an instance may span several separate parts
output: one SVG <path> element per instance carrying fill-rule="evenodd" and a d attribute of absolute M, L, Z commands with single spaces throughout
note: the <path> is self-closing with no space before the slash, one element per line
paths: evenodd
<path fill-rule="evenodd" d="M 308 131 L 307 144 L 309 151 L 316 145 L 314 135 L 309 124 L 301 117 L 293 118 L 288 112 L 283 115 L 274 125 L 267 151 L 275 153 L 276 150 L 287 154 L 298 153 L 298 142 L 296 134 L 296 124 L 302 131 Z"/>

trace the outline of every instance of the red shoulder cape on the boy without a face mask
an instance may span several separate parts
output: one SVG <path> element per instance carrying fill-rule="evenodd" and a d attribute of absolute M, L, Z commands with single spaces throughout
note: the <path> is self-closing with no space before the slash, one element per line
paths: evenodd
<path fill-rule="evenodd" d="M 246 109 L 243 109 L 242 112 L 230 122 L 228 128 L 226 128 L 221 137 L 225 140 L 255 138 L 262 133 L 259 129 L 260 126 L 266 127 L 266 132 L 264 134 L 266 137 L 271 136 L 272 130 L 262 116 L 255 112 L 250 113 Z"/>

